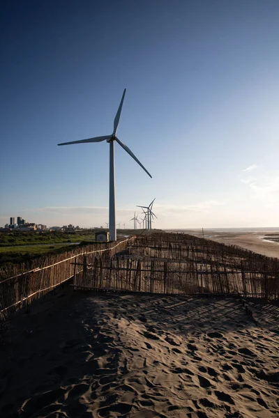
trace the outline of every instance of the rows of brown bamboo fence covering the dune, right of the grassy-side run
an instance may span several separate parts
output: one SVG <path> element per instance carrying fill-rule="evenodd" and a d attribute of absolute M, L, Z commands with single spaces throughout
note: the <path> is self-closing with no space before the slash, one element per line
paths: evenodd
<path fill-rule="evenodd" d="M 193 235 L 144 235 L 126 251 L 84 256 L 74 266 L 76 289 L 279 299 L 277 258 Z"/>

